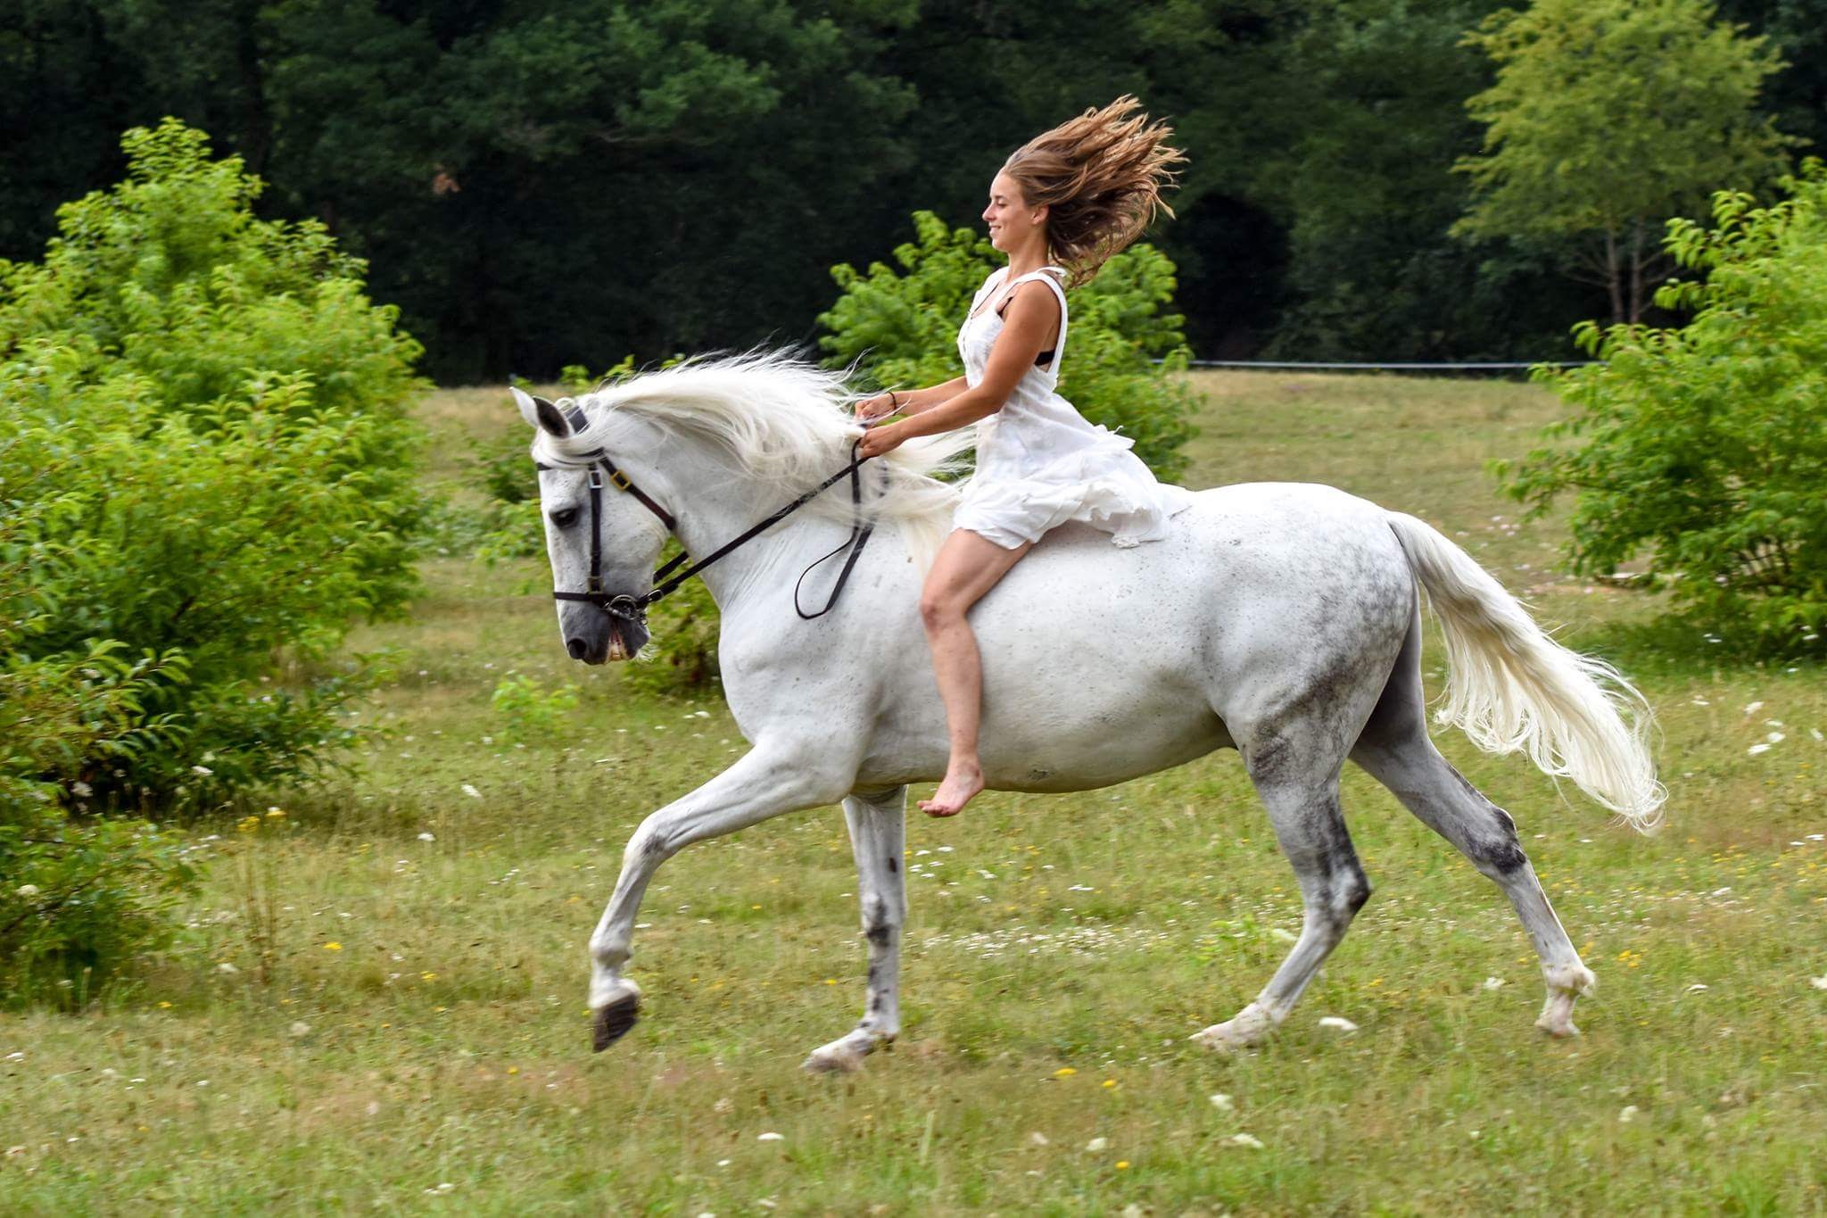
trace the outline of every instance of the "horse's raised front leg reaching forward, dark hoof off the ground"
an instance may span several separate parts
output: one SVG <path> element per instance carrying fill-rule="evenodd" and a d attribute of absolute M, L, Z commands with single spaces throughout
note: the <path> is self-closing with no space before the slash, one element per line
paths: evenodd
<path fill-rule="evenodd" d="M 621 975 L 641 895 L 667 858 L 692 842 L 818 803 L 833 803 L 850 789 L 851 776 L 833 765 L 829 751 L 756 745 L 740 761 L 647 816 L 621 855 L 616 891 L 603 920 L 590 935 L 590 1010 L 596 1050 L 603 1052 L 634 1026 L 641 1008 L 639 988 Z"/>

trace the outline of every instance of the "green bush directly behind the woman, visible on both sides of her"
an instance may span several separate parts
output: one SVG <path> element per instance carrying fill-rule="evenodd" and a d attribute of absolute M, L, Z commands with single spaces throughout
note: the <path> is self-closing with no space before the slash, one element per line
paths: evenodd
<path fill-rule="evenodd" d="M 948 230 L 932 212 L 914 214 L 915 239 L 893 252 L 904 274 L 871 263 L 831 268 L 842 296 L 818 323 L 833 365 L 859 363 L 879 385 L 932 385 L 959 374 L 957 327 L 985 276 L 1001 265 L 988 239 Z M 1186 469 L 1193 393 L 1178 373 L 1188 349 L 1173 305 L 1173 263 L 1138 245 L 1074 289 L 1060 393 L 1094 424 L 1136 442 L 1162 478 Z M 1160 360 L 1160 363 L 1156 363 Z"/>

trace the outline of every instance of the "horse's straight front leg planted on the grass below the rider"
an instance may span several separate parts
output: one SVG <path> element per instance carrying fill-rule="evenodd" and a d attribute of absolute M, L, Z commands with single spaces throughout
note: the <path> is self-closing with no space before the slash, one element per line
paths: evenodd
<path fill-rule="evenodd" d="M 855 1070 L 901 1032 L 901 926 L 908 915 L 903 869 L 906 805 L 906 787 L 844 800 L 850 849 L 857 856 L 862 939 L 870 944 L 870 993 L 862 1021 L 848 1035 L 811 1050 L 808 1070 Z"/>

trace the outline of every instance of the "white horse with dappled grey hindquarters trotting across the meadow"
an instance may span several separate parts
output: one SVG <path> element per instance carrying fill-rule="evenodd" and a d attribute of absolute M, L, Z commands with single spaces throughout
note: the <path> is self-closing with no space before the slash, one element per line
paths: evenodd
<path fill-rule="evenodd" d="M 669 528 L 689 553 L 709 555 L 842 469 L 859 435 L 839 374 L 769 354 L 685 363 L 576 402 L 515 398 L 537 427 L 555 588 L 576 593 L 559 601 L 559 630 L 585 663 L 634 656 L 647 641 L 628 610 L 650 588 Z M 946 763 L 919 606 L 956 493 L 928 473 L 968 442 L 935 436 L 862 467 L 864 509 L 881 528 L 826 617 L 795 614 L 795 581 L 842 546 L 853 511 L 846 489 L 824 491 L 703 572 L 722 610 L 723 692 L 753 747 L 628 840 L 590 939 L 597 1050 L 634 1024 L 639 990 L 623 970 L 660 864 L 692 842 L 837 802 L 857 858 L 868 999 L 855 1030 L 806 1065 L 855 1068 L 899 1032 L 906 789 L 937 782 Z M 599 455 L 612 462 L 610 482 L 636 495 L 599 486 L 592 509 Z M 596 595 L 581 592 L 592 568 Z M 831 586 L 817 572 L 809 583 Z M 1255 1001 L 1193 1037 L 1204 1045 L 1250 1045 L 1286 1019 L 1370 895 L 1339 811 L 1346 758 L 1504 889 L 1547 982 L 1537 1026 L 1575 1034 L 1573 1001 L 1593 975 L 1515 822 L 1427 738 L 1416 584 L 1447 641 L 1440 719 L 1485 751 L 1526 752 L 1652 827 L 1664 791 L 1642 743 L 1641 696 L 1611 667 L 1549 639 L 1438 531 L 1326 486 L 1202 491 L 1166 541 L 1133 550 L 1069 524 L 970 614 L 992 789 L 1085 791 L 1213 749 L 1242 754 L 1294 864 L 1304 920 Z M 610 597 L 628 599 L 610 606 Z"/>

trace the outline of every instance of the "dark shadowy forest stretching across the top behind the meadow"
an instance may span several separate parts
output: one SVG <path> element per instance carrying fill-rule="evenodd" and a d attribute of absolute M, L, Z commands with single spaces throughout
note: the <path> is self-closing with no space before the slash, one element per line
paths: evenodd
<path fill-rule="evenodd" d="M 833 263 L 1136 93 L 1191 155 L 1156 243 L 1200 356 L 1566 358 L 1602 289 L 1447 236 L 1485 0 L 4 0 L 0 257 L 177 115 L 371 261 L 437 380 L 808 341 Z M 1721 16 L 1827 150 L 1827 0 Z"/>

